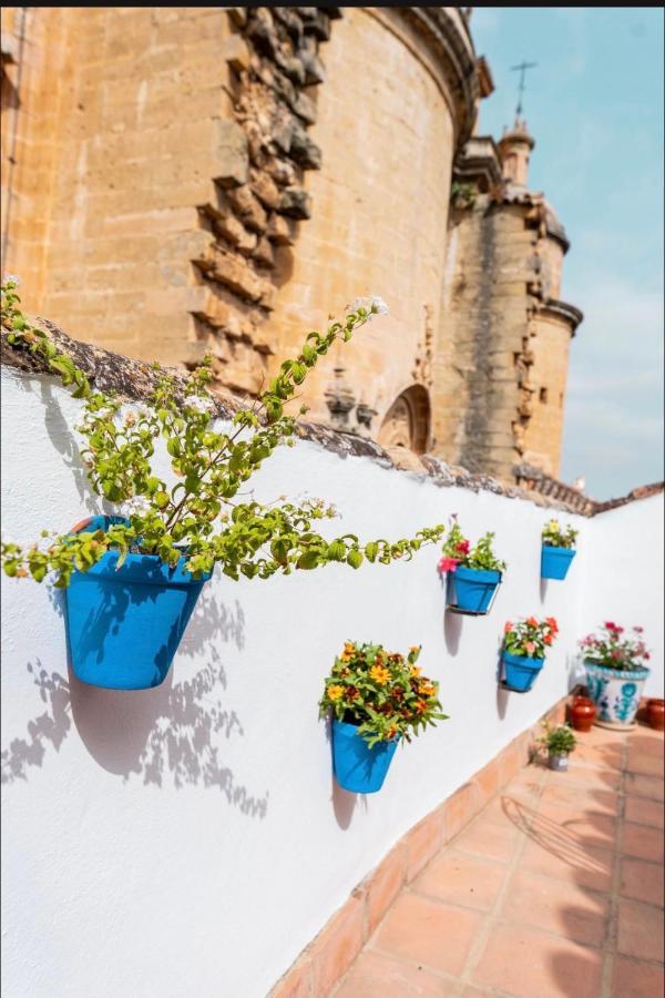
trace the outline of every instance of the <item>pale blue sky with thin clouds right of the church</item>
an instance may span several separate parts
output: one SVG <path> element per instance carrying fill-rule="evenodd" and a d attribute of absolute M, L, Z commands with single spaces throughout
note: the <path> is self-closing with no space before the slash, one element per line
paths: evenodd
<path fill-rule="evenodd" d="M 512 123 L 523 59 L 544 191 L 571 249 L 561 297 L 584 312 L 571 348 L 561 478 L 597 499 L 663 478 L 663 10 L 473 8 L 497 90 L 480 133 Z"/>

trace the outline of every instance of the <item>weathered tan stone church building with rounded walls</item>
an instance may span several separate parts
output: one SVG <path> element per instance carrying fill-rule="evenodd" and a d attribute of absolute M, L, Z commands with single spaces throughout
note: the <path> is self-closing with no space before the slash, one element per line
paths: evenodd
<path fill-rule="evenodd" d="M 310 418 L 504 481 L 556 478 L 567 240 L 470 8 L 6 8 L 2 266 L 23 305 L 255 395 L 358 296 L 390 315 Z"/>

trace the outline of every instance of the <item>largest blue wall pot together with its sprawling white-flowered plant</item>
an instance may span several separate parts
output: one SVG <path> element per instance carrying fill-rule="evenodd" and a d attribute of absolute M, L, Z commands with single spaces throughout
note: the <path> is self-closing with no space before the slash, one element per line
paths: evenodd
<path fill-rule="evenodd" d="M 211 357 L 186 379 L 153 365 L 149 404 L 123 411 L 115 393 L 93 387 L 73 358 L 28 322 L 19 301 L 17 281 L 3 282 L 6 342 L 40 355 L 81 400 L 81 459 L 93 492 L 117 510 L 68 533 L 43 531 L 41 546 L 3 541 L 0 547 L 7 576 L 38 582 L 50 576 L 53 585 L 68 590 L 70 655 L 82 681 L 116 689 L 163 682 L 216 564 L 233 580 L 336 561 L 357 569 L 366 559 L 383 564 L 410 559 L 443 536 L 438 526 L 392 542 L 361 543 L 350 533 L 328 539 L 316 530 L 318 520 L 336 516 L 324 500 L 294 503 L 282 496 L 264 505 L 239 498 L 279 445 L 294 445 L 296 418 L 286 415 L 287 403 L 337 340 L 346 343 L 388 310 L 380 298 L 355 302 L 325 334 L 308 333 L 298 356 L 285 360 L 254 405 L 238 408 L 231 420 L 209 390 Z M 216 416 L 231 426 L 219 428 Z M 175 485 L 153 469 L 158 439 Z"/>

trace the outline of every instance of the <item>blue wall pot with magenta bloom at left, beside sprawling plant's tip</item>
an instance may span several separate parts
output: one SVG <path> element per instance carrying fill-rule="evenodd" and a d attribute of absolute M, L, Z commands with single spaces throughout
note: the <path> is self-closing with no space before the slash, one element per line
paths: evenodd
<path fill-rule="evenodd" d="M 501 582 L 505 562 L 492 551 L 494 534 L 484 533 L 471 547 L 457 521 L 452 517 L 452 526 L 443 544 L 443 557 L 439 562 L 439 573 L 447 576 L 448 607 L 453 611 L 484 614 Z"/>

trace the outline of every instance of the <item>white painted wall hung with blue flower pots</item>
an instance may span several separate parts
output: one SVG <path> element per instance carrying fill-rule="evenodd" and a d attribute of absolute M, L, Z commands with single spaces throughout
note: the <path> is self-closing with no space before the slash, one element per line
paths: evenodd
<path fill-rule="evenodd" d="M 30 542 L 99 511 L 71 437 L 78 404 L 48 379 L 3 371 L 2 408 L 7 537 Z M 3 578 L 8 998 L 262 998 L 390 846 L 565 694 L 589 620 L 623 618 L 614 594 L 628 583 L 611 559 L 596 564 L 613 520 L 625 537 L 657 511 L 649 500 L 606 520 L 566 518 L 582 530 L 580 554 L 564 583 L 541 583 L 550 512 L 531 502 L 437 488 L 303 441 L 262 476 L 260 498 L 308 489 L 337 505 L 340 532 L 366 539 L 451 512 L 471 537 L 495 530 L 509 569 L 493 611 L 444 614 L 433 548 L 357 572 L 215 576 L 164 685 L 113 692 L 71 676 L 59 597 Z M 624 550 L 635 600 L 653 547 Z M 503 623 L 529 613 L 557 617 L 561 640 L 533 691 L 507 694 L 495 681 Z M 640 619 L 649 629 L 655 610 Z M 451 715 L 398 751 L 367 798 L 336 788 L 317 719 L 347 638 L 422 643 Z"/>

